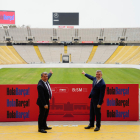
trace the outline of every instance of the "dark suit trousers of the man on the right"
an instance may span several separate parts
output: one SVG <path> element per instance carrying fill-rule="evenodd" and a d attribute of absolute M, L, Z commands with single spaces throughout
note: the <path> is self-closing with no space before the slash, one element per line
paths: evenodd
<path fill-rule="evenodd" d="M 94 101 L 91 98 L 90 102 L 90 126 L 94 127 L 94 121 L 96 116 L 96 127 L 100 128 L 101 126 L 101 108 L 97 108 L 97 101 Z"/>

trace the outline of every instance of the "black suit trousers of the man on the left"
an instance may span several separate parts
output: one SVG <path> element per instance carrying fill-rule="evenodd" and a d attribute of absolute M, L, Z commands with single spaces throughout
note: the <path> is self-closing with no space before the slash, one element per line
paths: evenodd
<path fill-rule="evenodd" d="M 38 129 L 44 129 L 47 126 L 46 119 L 49 114 L 49 107 L 48 109 L 39 106 L 39 116 L 38 116 Z"/>

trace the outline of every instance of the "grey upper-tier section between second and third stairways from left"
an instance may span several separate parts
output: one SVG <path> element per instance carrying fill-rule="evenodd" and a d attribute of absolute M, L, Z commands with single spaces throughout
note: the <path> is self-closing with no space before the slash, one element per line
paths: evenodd
<path fill-rule="evenodd" d="M 51 38 L 53 37 L 53 29 L 46 28 L 31 28 L 31 34 L 37 41 L 49 41 L 52 42 Z"/>

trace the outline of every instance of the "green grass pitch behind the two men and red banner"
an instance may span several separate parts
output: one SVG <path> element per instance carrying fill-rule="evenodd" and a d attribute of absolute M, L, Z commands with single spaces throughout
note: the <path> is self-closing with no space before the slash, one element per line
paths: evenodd
<path fill-rule="evenodd" d="M 140 85 L 140 70 L 133 68 L 3 68 L 0 69 L 0 84 L 37 84 L 40 74 L 50 69 L 53 71 L 51 84 L 91 84 L 82 71 L 95 76 L 100 69 L 106 84 Z"/>

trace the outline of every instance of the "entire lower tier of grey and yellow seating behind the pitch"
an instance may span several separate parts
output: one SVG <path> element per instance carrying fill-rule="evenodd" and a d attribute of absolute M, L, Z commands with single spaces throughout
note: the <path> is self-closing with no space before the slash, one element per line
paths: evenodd
<path fill-rule="evenodd" d="M 140 64 L 140 46 L 117 45 L 3 45 L 0 64 L 60 63 L 63 54 L 72 63 Z"/>

